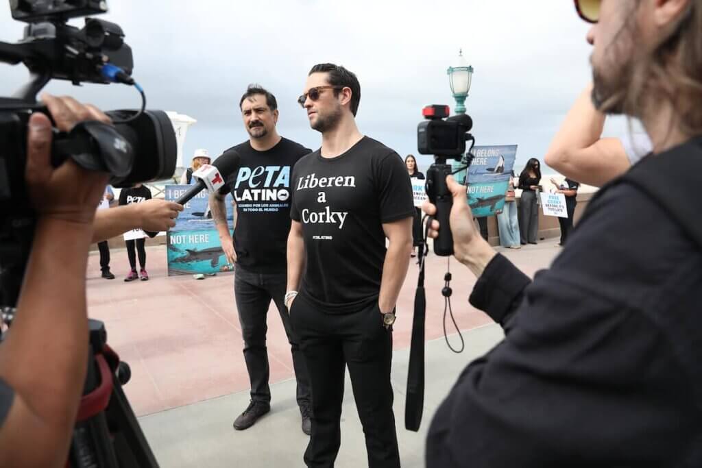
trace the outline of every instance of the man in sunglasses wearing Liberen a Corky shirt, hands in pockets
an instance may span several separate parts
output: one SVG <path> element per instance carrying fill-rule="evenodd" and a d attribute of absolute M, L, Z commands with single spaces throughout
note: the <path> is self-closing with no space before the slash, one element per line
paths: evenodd
<path fill-rule="evenodd" d="M 402 159 L 358 131 L 360 95 L 354 74 L 322 64 L 312 67 L 299 100 L 310 126 L 322 133 L 322 148 L 293 171 L 286 293 L 314 395 L 305 451 L 310 467 L 332 467 L 336 460 L 345 366 L 369 467 L 399 467 L 392 323 L 415 210 Z"/>

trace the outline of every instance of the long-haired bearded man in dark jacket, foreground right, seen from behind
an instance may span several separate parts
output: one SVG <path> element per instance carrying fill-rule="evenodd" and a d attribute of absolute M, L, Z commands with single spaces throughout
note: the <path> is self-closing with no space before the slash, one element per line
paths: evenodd
<path fill-rule="evenodd" d="M 475 232 L 447 178 L 470 302 L 505 339 L 439 406 L 430 468 L 702 466 L 702 0 L 576 7 L 596 23 L 595 108 L 640 119 L 653 154 L 600 189 L 534 281 Z"/>

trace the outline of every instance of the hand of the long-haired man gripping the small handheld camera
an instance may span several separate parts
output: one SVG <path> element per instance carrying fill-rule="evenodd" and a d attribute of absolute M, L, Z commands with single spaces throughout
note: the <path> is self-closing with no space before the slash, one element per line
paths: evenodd
<path fill-rule="evenodd" d="M 472 212 L 466 199 L 465 185 L 458 184 L 451 175 L 446 177 L 446 185 L 453 195 L 453 206 L 451 206 L 451 215 L 449 216 L 451 234 L 453 234 L 453 256 L 463 265 L 469 267 L 476 276 L 480 276 L 483 269 L 495 256 L 495 251 L 475 229 Z M 434 216 L 437 212 L 436 206 L 428 200 L 424 202 L 422 209 L 430 216 Z M 439 229 L 444 229 L 444 227 L 440 226 L 437 220 L 432 220 L 428 235 L 432 239 L 436 239 L 439 235 Z"/>

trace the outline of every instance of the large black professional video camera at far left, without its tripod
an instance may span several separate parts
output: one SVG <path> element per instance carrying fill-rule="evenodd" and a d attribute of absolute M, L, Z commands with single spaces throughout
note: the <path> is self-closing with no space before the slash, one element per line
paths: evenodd
<path fill-rule="evenodd" d="M 0 98 L 0 307 L 15 305 L 34 236 L 35 215 L 25 186 L 27 121 L 33 112 L 48 115 L 37 102 L 48 81 L 124 83 L 135 86 L 143 102 L 140 110 L 107 112 L 113 126 L 88 121 L 69 133 L 54 131 L 54 166 L 71 158 L 86 169 L 110 173 L 115 187 L 129 187 L 170 178 L 177 154 L 166 113 L 145 110 L 121 28 L 95 18 L 86 18 L 82 29 L 66 24 L 69 18 L 105 13 L 104 0 L 11 0 L 10 7 L 13 18 L 28 24 L 18 44 L 0 42 L 0 62 L 23 63 L 30 78 L 11 97 Z"/>

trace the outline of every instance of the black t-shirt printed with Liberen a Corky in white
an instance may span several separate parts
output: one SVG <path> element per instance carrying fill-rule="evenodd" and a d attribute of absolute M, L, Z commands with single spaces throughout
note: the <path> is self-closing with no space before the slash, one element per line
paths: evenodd
<path fill-rule="evenodd" d="M 307 267 L 300 293 L 330 313 L 376 300 L 385 261 L 383 223 L 414 215 L 402 158 L 364 137 L 325 159 L 319 150 L 293 171 L 291 218 L 302 223 Z"/>

